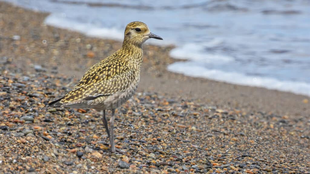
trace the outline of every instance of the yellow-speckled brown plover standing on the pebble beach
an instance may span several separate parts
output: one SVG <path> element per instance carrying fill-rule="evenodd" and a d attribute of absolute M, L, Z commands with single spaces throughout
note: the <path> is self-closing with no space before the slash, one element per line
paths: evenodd
<path fill-rule="evenodd" d="M 127 24 L 122 47 L 90 67 L 68 94 L 50 102 L 48 106 L 91 108 L 101 111 L 104 128 L 110 140 L 111 153 L 115 153 L 113 130 L 115 109 L 131 98 L 139 85 L 143 60 L 142 44 L 150 38 L 163 40 L 162 37 L 151 33 L 143 22 L 134 21 Z M 106 110 L 112 110 L 110 131 Z"/>

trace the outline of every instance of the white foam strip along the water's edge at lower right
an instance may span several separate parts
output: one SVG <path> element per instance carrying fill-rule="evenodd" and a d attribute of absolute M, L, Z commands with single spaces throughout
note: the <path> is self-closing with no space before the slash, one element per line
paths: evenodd
<path fill-rule="evenodd" d="M 274 78 L 246 76 L 237 72 L 224 72 L 221 70 L 208 69 L 197 62 L 176 62 L 169 65 L 171 72 L 181 73 L 187 76 L 203 77 L 212 80 L 224 81 L 237 85 L 248 85 L 264 87 L 267 89 L 277 89 L 310 96 L 310 84 L 295 81 L 280 81 Z"/>

